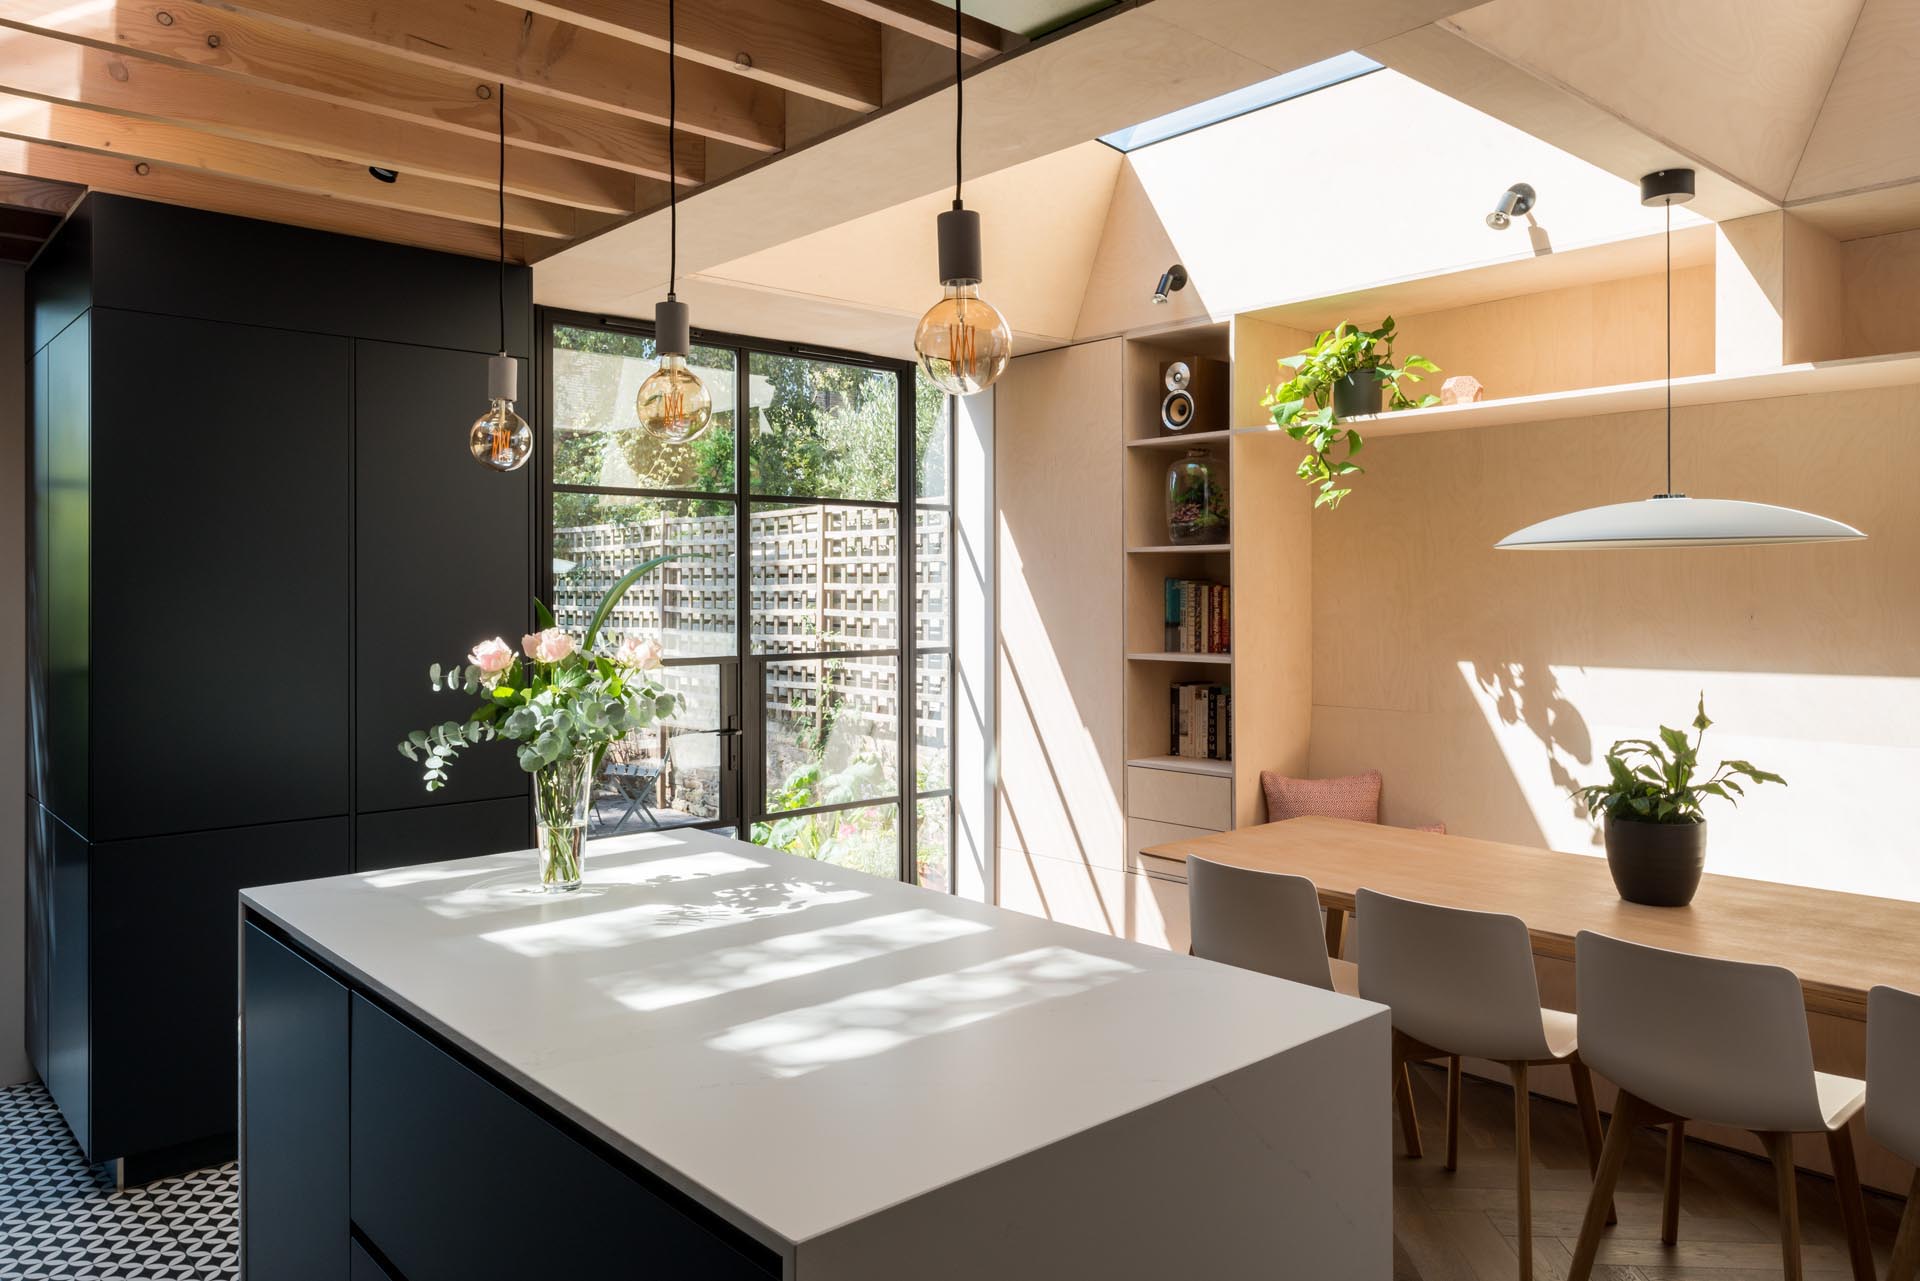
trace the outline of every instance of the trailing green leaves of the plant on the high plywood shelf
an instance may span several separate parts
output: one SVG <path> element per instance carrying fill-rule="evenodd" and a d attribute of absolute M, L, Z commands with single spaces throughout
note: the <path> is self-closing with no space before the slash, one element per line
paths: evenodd
<path fill-rule="evenodd" d="M 1425 355 L 1409 355 L 1405 363 L 1394 365 L 1394 317 L 1380 321 L 1379 328 L 1359 328 L 1352 321 L 1342 321 L 1321 330 L 1306 351 L 1283 355 L 1281 367 L 1290 369 L 1292 376 L 1277 388 L 1267 388 L 1260 405 L 1273 413 L 1277 426 L 1306 444 L 1308 455 L 1300 459 L 1296 474 L 1319 486 L 1315 507 L 1338 507 L 1340 499 L 1352 494 L 1346 478 L 1365 471 L 1354 461 L 1365 442 L 1359 432 L 1340 424 L 1332 405 L 1334 384 L 1350 376 L 1377 378 L 1386 388 L 1388 409 L 1425 409 L 1440 403 L 1438 396 L 1413 399 L 1402 386 L 1419 382 L 1421 373 L 1436 375 L 1440 367 Z M 1344 455 L 1336 459 L 1334 451 L 1342 446 Z"/>

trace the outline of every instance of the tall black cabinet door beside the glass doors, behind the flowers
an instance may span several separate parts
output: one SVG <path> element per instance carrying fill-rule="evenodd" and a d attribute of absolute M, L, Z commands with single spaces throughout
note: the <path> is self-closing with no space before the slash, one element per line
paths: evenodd
<path fill-rule="evenodd" d="M 536 467 L 501 474 L 467 453 L 486 409 L 484 355 L 359 342 L 353 405 L 357 809 L 526 795 L 511 743 L 470 749 L 436 793 L 396 743 L 476 703 L 434 693 L 430 665 L 465 663 L 490 636 L 518 647 Z"/>

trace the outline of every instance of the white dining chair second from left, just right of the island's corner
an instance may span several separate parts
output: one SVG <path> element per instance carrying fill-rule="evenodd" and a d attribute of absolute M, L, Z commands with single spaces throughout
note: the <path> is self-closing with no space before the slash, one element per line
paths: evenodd
<path fill-rule="evenodd" d="M 1524 922 L 1361 889 L 1359 995 L 1394 1010 L 1394 1074 L 1409 1062 L 1448 1060 L 1448 1170 L 1455 1168 L 1459 1060 L 1492 1058 L 1513 1079 L 1515 1196 L 1521 1281 L 1534 1275 L 1530 1068 L 1572 1072 L 1588 1170 L 1599 1164 L 1599 1110 L 1580 1054 L 1578 1020 L 1540 1004 L 1534 947 Z"/>

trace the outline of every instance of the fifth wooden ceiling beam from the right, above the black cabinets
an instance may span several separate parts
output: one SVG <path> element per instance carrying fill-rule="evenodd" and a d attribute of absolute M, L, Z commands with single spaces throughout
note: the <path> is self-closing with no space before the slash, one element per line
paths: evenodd
<path fill-rule="evenodd" d="M 6 25 L 0 90 L 468 186 L 492 188 L 499 177 L 499 148 L 482 138 Z M 630 173 L 540 152 L 507 167 L 509 192 L 597 213 L 632 213 L 641 205 L 639 182 Z"/>

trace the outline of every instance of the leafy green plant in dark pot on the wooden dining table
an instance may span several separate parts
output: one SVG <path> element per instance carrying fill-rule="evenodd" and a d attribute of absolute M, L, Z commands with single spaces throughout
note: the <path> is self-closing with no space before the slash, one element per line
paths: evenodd
<path fill-rule="evenodd" d="M 1740 780 L 1780 784 L 1788 780 L 1747 761 L 1722 761 L 1703 782 L 1693 780 L 1699 745 L 1707 737 L 1707 697 L 1693 716 L 1693 741 L 1661 726 L 1659 741 L 1622 737 L 1607 749 L 1605 784 L 1574 791 L 1588 816 L 1605 814 L 1607 870 L 1628 903 L 1686 906 L 1707 868 L 1707 797 L 1734 801 L 1745 795 Z"/>

